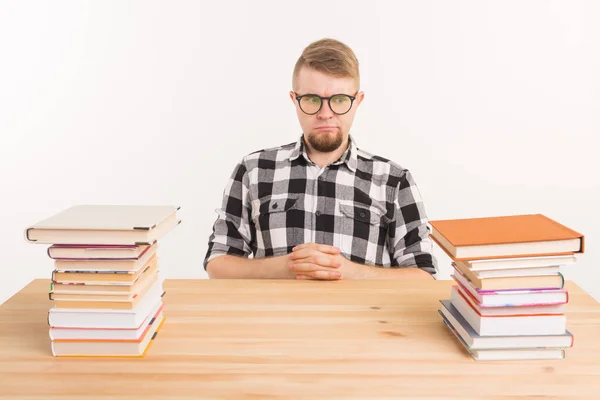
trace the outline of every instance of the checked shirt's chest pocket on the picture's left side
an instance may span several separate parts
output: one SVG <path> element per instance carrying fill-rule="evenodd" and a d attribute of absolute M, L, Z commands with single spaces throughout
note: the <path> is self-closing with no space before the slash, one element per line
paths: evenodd
<path fill-rule="evenodd" d="M 299 226 L 304 222 L 299 204 L 295 197 L 267 197 L 257 202 L 253 210 L 256 244 L 265 256 L 287 254 L 299 244 Z"/>

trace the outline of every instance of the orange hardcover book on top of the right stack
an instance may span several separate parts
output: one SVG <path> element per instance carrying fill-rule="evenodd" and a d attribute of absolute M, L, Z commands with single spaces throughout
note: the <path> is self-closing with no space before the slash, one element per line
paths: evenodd
<path fill-rule="evenodd" d="M 431 221 L 432 239 L 453 259 L 583 253 L 582 234 L 542 215 Z"/>

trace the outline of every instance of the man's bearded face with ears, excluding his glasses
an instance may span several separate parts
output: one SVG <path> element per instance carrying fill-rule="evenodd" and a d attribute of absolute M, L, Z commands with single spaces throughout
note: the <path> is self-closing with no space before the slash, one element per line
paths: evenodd
<path fill-rule="evenodd" d="M 336 78 L 309 67 L 303 67 L 300 70 L 296 79 L 295 93 L 290 92 L 290 97 L 296 105 L 296 114 L 302 132 L 304 132 L 304 138 L 312 149 L 321 153 L 329 153 L 347 143 L 356 109 L 364 98 L 364 93 L 357 94 L 357 90 L 357 82 L 352 78 Z M 296 101 L 296 96 L 304 94 L 316 94 L 322 97 L 347 94 L 355 96 L 356 99 L 346 114 L 334 113 L 329 107 L 328 101 L 323 100 L 319 112 L 308 115 L 302 111 Z"/>

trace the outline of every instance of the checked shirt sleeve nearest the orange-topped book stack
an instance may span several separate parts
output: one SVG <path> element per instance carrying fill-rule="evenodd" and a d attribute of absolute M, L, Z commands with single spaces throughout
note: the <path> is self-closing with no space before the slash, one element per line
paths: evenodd
<path fill-rule="evenodd" d="M 404 171 L 395 194 L 395 218 L 388 230 L 391 265 L 417 266 L 435 274 L 437 262 L 429 237 L 431 228 L 421 194 L 410 171 Z"/>

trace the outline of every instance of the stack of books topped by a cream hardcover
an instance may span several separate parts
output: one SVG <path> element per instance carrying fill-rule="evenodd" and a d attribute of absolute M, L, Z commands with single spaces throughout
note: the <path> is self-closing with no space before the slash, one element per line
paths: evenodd
<path fill-rule="evenodd" d="M 50 244 L 54 356 L 143 356 L 165 320 L 158 240 L 181 221 L 172 206 L 68 208 L 25 230 Z"/>

